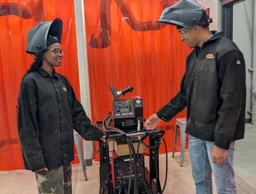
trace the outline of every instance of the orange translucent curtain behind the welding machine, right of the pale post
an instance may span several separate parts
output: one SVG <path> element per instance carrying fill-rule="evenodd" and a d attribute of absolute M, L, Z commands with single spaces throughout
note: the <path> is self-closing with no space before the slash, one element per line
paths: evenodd
<path fill-rule="evenodd" d="M 120 99 L 129 99 L 130 95 L 141 97 L 144 118 L 156 113 L 179 91 L 185 59 L 191 49 L 181 42 L 175 27 L 166 25 L 154 30 L 152 24 L 160 18 L 164 6 L 171 7 L 174 3 L 171 0 L 84 0 L 93 123 L 102 121 L 103 115 L 111 111 L 114 100 L 109 89 L 111 84 L 117 91 L 133 86 L 133 92 Z M 151 22 L 149 30 L 143 27 L 147 21 Z M 135 27 L 137 22 L 142 23 L 140 28 Z M 185 110 L 175 118 L 183 117 L 186 117 Z M 175 118 L 159 124 L 166 126 L 168 152 L 173 148 Z M 163 151 L 160 148 L 160 153 Z M 96 155 L 95 160 L 98 159 Z"/>

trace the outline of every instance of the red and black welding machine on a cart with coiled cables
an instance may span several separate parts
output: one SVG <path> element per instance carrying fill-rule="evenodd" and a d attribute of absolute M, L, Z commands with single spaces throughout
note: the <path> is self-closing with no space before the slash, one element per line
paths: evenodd
<path fill-rule="evenodd" d="M 113 85 L 109 88 L 115 98 L 112 114 L 97 122 L 97 127 L 106 134 L 106 139 L 114 141 L 115 148 L 109 152 L 109 146 L 100 141 L 100 149 L 96 151 L 100 152 L 100 194 L 163 193 L 164 188 L 159 181 L 158 151 L 164 142 L 167 161 L 167 147 L 162 138 L 165 131 L 148 132 L 143 129 L 143 101 L 140 97 L 119 99 L 119 96 L 132 92 L 132 86 L 118 92 Z M 143 152 L 143 146 L 149 153 Z M 149 156 L 148 167 L 145 166 L 144 155 Z"/>

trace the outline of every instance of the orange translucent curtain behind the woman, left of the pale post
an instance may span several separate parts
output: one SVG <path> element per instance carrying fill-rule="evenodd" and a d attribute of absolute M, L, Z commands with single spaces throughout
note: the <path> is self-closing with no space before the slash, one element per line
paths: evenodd
<path fill-rule="evenodd" d="M 61 45 L 66 51 L 57 72 L 69 79 L 80 99 L 73 1 L 0 0 L 0 171 L 24 169 L 15 106 L 21 78 L 33 62 L 26 53 L 27 32 L 56 17 L 63 21 Z"/>

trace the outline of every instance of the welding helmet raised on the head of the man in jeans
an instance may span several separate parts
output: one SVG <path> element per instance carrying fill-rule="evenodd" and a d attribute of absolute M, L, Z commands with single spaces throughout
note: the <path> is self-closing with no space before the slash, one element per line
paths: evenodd
<path fill-rule="evenodd" d="M 204 12 L 204 7 L 193 0 L 180 0 L 172 7 L 167 7 L 162 13 L 158 22 L 175 25 L 179 28 L 193 28 L 194 25 L 201 23 Z M 207 16 L 201 25 L 211 23 L 211 18 Z"/>

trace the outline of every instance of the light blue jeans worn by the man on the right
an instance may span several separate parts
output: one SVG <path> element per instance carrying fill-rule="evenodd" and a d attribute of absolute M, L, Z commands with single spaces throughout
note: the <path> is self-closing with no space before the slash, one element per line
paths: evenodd
<path fill-rule="evenodd" d="M 237 194 L 233 170 L 234 145 L 235 141 L 232 141 L 223 163 L 213 164 L 211 152 L 214 142 L 189 136 L 189 152 L 196 194 L 213 193 L 212 173 L 218 194 Z"/>

